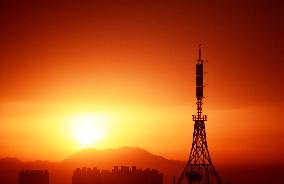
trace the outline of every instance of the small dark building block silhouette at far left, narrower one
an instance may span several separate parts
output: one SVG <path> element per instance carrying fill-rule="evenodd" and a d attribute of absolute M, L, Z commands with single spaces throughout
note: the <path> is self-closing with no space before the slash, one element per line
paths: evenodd
<path fill-rule="evenodd" d="M 48 170 L 25 170 L 19 173 L 18 184 L 49 184 Z"/>

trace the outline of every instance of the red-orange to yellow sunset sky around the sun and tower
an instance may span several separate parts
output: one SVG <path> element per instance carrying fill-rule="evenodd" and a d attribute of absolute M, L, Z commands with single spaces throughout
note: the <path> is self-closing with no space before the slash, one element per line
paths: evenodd
<path fill-rule="evenodd" d="M 0 5 L 0 157 L 61 160 L 92 114 L 100 149 L 189 154 L 203 44 L 217 163 L 284 162 L 283 3 L 94 1 Z"/>

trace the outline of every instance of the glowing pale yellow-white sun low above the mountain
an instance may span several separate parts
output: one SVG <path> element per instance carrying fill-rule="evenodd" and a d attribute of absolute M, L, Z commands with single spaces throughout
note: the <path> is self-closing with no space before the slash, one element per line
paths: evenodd
<path fill-rule="evenodd" d="M 106 118 L 97 114 L 78 114 L 71 118 L 72 137 L 80 147 L 94 146 L 105 134 Z"/>

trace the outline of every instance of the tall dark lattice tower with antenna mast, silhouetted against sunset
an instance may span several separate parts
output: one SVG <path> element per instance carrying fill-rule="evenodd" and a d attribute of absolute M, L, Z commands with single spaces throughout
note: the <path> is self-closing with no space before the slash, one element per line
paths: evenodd
<path fill-rule="evenodd" d="M 211 161 L 206 141 L 205 121 L 207 116 L 202 114 L 203 105 L 203 60 L 199 48 L 196 63 L 196 98 L 197 115 L 192 115 L 194 121 L 193 142 L 185 169 L 177 180 L 177 184 L 188 181 L 189 184 L 222 184 Z"/>

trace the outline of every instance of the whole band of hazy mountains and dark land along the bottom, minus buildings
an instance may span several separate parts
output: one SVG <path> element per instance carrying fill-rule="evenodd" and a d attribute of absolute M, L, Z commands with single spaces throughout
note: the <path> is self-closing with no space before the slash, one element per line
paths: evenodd
<path fill-rule="evenodd" d="M 48 169 L 50 184 L 71 184 L 75 168 L 112 169 L 115 165 L 155 168 L 164 174 L 164 184 L 172 184 L 173 176 L 180 174 L 185 162 L 168 160 L 143 149 L 130 147 L 105 151 L 86 149 L 61 162 L 21 162 L 17 158 L 3 158 L 0 159 L 0 184 L 17 184 L 19 172 L 26 169 Z M 216 168 L 223 181 L 232 184 L 284 183 L 283 164 L 216 165 Z"/>

